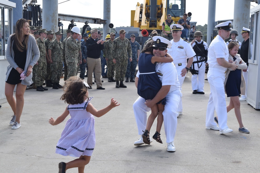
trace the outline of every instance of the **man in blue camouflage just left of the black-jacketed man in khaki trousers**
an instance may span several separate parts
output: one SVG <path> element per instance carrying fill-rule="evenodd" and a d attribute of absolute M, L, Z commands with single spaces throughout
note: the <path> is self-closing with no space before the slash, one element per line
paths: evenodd
<path fill-rule="evenodd" d="M 84 79 L 86 67 L 88 69 L 86 40 L 88 39 L 89 35 L 87 33 L 84 33 L 82 37 L 84 40 L 81 41 L 82 64 L 80 64 L 80 78 Z"/>

